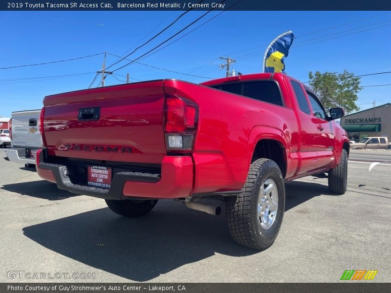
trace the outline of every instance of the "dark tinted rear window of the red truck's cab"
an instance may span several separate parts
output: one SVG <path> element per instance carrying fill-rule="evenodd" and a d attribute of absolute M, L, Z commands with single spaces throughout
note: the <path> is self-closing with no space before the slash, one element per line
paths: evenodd
<path fill-rule="evenodd" d="M 277 83 L 273 81 L 219 84 L 213 88 L 241 95 L 258 101 L 282 106 L 282 97 Z"/>

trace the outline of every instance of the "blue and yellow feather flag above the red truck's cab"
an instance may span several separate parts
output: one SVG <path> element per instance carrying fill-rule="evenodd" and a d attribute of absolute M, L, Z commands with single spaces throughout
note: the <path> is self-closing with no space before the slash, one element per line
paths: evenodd
<path fill-rule="evenodd" d="M 284 72 L 284 59 L 295 36 L 291 31 L 278 36 L 266 49 L 263 59 L 263 72 Z"/>

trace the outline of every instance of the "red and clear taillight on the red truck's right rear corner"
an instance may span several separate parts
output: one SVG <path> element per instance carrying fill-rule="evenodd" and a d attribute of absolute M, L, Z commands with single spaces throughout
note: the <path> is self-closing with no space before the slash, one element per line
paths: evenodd
<path fill-rule="evenodd" d="M 164 130 L 167 151 L 191 151 L 197 123 L 197 104 L 185 98 L 166 96 Z"/>

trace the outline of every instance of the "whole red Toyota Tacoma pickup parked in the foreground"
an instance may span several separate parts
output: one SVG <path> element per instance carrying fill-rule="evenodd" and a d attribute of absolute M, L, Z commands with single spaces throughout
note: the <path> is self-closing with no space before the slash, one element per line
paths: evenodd
<path fill-rule="evenodd" d="M 39 175 L 58 188 L 104 198 L 138 217 L 159 199 L 219 214 L 232 237 L 263 250 L 282 223 L 284 181 L 328 173 L 347 188 L 349 140 L 304 84 L 281 73 L 203 84 L 157 80 L 43 100 Z"/>

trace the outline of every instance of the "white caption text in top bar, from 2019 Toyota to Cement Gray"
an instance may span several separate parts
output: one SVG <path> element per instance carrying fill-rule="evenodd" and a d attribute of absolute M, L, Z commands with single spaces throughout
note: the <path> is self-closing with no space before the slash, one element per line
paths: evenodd
<path fill-rule="evenodd" d="M 225 4 L 221 3 L 192 3 L 192 2 L 174 2 L 174 3 L 164 3 L 164 2 L 147 2 L 147 3 L 117 3 L 116 8 L 220 8 L 224 9 Z M 112 9 L 113 5 L 111 3 L 83 3 L 83 2 L 70 2 L 70 3 L 29 3 L 29 2 L 8 2 L 7 8 L 29 8 L 29 9 L 56 9 L 56 8 L 105 8 Z"/>

